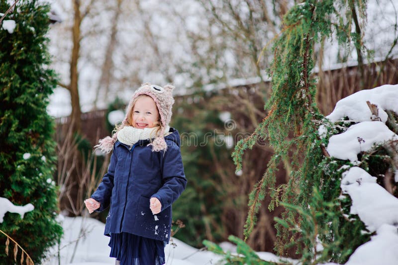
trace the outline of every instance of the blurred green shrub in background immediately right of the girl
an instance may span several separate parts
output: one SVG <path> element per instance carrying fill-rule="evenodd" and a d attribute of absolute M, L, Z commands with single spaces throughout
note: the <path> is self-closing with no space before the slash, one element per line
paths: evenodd
<path fill-rule="evenodd" d="M 196 92 L 189 95 L 200 99 L 197 102 L 176 100 L 171 126 L 181 136 L 181 153 L 188 184 L 181 197 L 173 204 L 173 220 L 182 220 L 186 225 L 175 235 L 176 238 L 201 247 L 203 239 L 219 241 L 224 230 L 221 213 L 226 199 L 212 163 L 212 154 L 219 161 L 228 161 L 229 151 L 225 146 L 214 144 L 214 129 L 222 127 L 218 113 L 203 107 L 210 95 Z M 196 122 L 200 121 L 200 122 Z M 214 153 L 212 153 L 214 152 Z"/>

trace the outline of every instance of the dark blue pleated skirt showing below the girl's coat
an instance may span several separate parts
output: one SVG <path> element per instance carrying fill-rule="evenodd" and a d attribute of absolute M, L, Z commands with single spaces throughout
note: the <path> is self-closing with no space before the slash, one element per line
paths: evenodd
<path fill-rule="evenodd" d="M 129 233 L 111 234 L 109 257 L 116 258 L 120 265 L 163 265 L 165 242 Z"/>

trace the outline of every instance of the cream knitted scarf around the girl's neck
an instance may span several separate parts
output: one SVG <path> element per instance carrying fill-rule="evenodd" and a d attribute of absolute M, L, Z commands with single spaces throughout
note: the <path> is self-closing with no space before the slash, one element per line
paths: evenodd
<path fill-rule="evenodd" d="M 132 126 L 124 126 L 117 132 L 117 140 L 126 145 L 133 145 L 139 140 L 153 139 L 157 137 L 155 131 L 157 127 L 138 129 Z M 169 134 L 170 127 L 165 129 L 165 135 Z"/>

